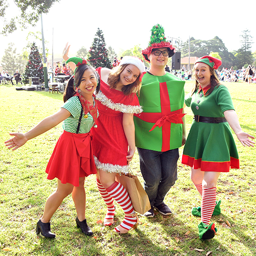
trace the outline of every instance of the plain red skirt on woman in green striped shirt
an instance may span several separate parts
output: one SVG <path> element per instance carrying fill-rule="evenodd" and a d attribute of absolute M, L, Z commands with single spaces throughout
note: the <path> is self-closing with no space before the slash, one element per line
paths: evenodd
<path fill-rule="evenodd" d="M 46 167 L 47 179 L 79 187 L 79 178 L 96 174 L 91 132 L 76 134 L 63 131 Z"/>

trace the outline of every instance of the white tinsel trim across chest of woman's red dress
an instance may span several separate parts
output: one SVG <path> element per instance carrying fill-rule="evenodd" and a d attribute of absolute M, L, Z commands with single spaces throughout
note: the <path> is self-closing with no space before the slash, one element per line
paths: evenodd
<path fill-rule="evenodd" d="M 102 105 L 111 110 L 120 111 L 122 113 L 139 114 L 143 111 L 141 106 L 124 105 L 122 103 L 114 103 L 106 95 L 99 91 L 96 95 L 96 100 L 100 101 Z"/>

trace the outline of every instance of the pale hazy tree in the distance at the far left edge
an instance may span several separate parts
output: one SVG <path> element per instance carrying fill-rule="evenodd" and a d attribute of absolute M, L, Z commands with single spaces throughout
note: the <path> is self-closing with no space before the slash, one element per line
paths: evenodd
<path fill-rule="evenodd" d="M 22 56 L 16 53 L 16 49 L 13 43 L 9 43 L 2 57 L 3 69 L 8 70 L 10 75 L 15 73 L 16 69 L 22 73 L 26 64 Z"/>

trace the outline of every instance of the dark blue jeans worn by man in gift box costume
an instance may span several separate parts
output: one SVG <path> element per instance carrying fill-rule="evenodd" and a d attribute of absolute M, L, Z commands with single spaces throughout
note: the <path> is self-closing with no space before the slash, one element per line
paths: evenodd
<path fill-rule="evenodd" d="M 164 202 L 165 195 L 177 180 L 179 149 L 158 152 L 137 147 L 137 151 L 150 205 L 158 206 Z"/>

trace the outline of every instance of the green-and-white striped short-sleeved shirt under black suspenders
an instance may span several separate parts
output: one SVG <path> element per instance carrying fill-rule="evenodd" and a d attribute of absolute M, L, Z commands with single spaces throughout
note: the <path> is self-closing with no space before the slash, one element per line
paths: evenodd
<path fill-rule="evenodd" d="M 76 133 L 82 109 L 82 105 L 79 101 L 79 98 L 77 96 L 71 97 L 64 103 L 62 108 L 68 110 L 71 113 L 71 116 L 63 121 L 63 129 L 67 132 Z M 84 118 L 84 112 L 82 113 L 82 120 L 78 133 L 88 133 L 91 130 L 91 127 L 94 125 L 94 121 L 91 114 L 88 113 L 87 116 L 87 118 Z"/>

